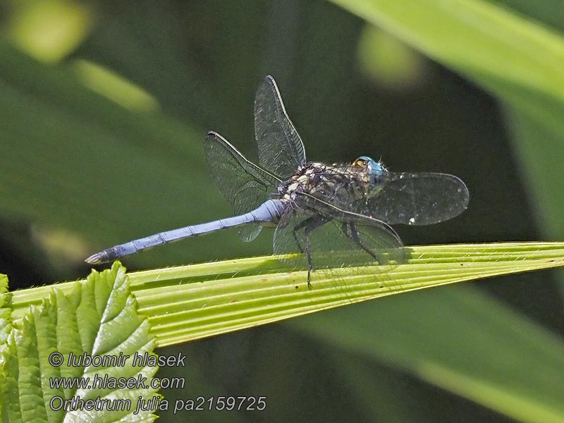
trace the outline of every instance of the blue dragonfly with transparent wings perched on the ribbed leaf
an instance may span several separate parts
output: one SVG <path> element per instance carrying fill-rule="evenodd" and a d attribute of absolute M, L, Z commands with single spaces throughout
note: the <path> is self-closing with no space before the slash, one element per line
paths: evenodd
<path fill-rule="evenodd" d="M 391 225 L 446 221 L 462 213 L 470 200 L 465 183 L 446 173 L 394 173 L 367 156 L 352 164 L 307 161 L 270 75 L 255 97 L 255 138 L 258 165 L 219 133 L 209 132 L 204 142 L 209 171 L 234 216 L 115 245 L 85 261 L 110 262 L 233 227 L 248 242 L 266 227 L 274 228 L 276 255 L 300 257 L 296 263 L 307 266 L 310 287 L 314 269 L 401 262 L 403 243 Z"/>

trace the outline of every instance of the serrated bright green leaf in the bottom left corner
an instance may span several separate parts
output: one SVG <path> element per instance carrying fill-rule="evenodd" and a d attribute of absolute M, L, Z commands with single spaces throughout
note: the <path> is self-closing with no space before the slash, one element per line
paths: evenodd
<path fill-rule="evenodd" d="M 157 367 L 134 366 L 132 359 L 102 367 L 84 361 L 94 356 L 152 354 L 149 324 L 137 315 L 123 267 L 114 264 L 100 274 L 94 271 L 87 281 L 68 283 L 65 288 L 66 293 L 52 287 L 43 290 L 41 303 L 28 307 L 8 336 L 0 376 L 6 417 L 11 422 L 152 422 L 155 416 L 150 411 L 134 414 L 138 397 L 150 400 L 158 396 L 147 386 L 123 389 L 111 382 L 88 387 L 52 385 L 61 378 L 92 383 L 96 375 L 150 380 L 157 372 Z M 51 364 L 58 357 L 62 364 Z M 65 410 L 63 401 L 73 398 L 115 401 L 112 404 L 123 408 Z"/>

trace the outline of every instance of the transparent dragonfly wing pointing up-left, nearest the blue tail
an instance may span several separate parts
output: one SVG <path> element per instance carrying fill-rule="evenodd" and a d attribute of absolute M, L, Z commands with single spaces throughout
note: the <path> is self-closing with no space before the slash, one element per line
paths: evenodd
<path fill-rule="evenodd" d="M 204 153 L 219 192 L 231 204 L 235 214 L 244 214 L 259 207 L 280 183 L 274 176 L 245 159 L 218 133 L 207 134 Z M 238 233 L 244 241 L 251 241 L 261 229 L 262 226 L 250 224 L 241 226 Z"/>

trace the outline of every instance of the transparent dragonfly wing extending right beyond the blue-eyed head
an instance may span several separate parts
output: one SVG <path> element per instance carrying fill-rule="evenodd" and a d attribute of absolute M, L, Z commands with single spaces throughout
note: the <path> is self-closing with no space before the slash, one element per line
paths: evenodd
<path fill-rule="evenodd" d="M 470 192 L 446 173 L 387 173 L 353 211 L 390 225 L 431 225 L 464 212 Z"/>

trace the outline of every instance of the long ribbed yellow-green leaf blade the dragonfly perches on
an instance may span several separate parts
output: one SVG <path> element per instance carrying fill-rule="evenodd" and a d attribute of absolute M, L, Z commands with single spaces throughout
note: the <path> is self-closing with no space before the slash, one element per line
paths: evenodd
<path fill-rule="evenodd" d="M 171 345 L 412 290 L 564 266 L 561 243 L 408 247 L 405 264 L 291 271 L 276 257 L 176 266 L 129 274 L 159 345 Z M 68 283 L 57 286 L 68 289 Z M 14 293 L 14 316 L 47 287 Z M 21 308 L 20 308 L 21 307 Z"/>

